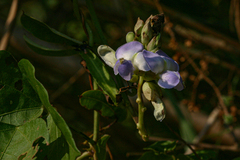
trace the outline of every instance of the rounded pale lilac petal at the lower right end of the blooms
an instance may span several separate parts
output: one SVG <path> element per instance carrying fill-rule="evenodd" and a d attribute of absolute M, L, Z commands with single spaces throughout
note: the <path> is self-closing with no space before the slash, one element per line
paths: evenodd
<path fill-rule="evenodd" d="M 180 74 L 174 71 L 167 71 L 160 75 L 158 85 L 162 88 L 173 88 L 180 82 Z"/>

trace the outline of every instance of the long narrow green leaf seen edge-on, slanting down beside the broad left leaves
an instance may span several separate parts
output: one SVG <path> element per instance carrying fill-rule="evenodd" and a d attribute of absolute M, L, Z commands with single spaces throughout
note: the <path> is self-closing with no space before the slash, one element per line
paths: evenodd
<path fill-rule="evenodd" d="M 34 75 L 35 69 L 32 66 L 32 64 L 28 60 L 22 59 L 18 63 L 18 66 L 19 66 L 21 72 L 25 75 L 26 79 L 32 85 L 35 92 L 38 94 L 42 104 L 45 106 L 45 108 L 51 114 L 54 123 L 56 124 L 58 129 L 62 132 L 64 138 L 66 139 L 67 143 L 69 144 L 69 147 L 71 147 L 75 151 L 76 154 L 80 154 L 80 152 L 77 149 L 76 144 L 73 140 L 72 133 L 71 133 L 70 129 L 68 128 L 66 122 L 59 115 L 59 113 L 51 106 L 46 89 L 35 78 L 35 75 Z"/>

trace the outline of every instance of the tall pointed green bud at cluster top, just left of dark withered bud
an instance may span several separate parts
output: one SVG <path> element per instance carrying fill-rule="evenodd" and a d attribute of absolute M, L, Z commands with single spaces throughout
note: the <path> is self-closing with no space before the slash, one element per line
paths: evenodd
<path fill-rule="evenodd" d="M 141 42 L 143 45 L 148 44 L 148 42 L 152 39 L 152 28 L 150 25 L 150 20 L 152 18 L 152 15 L 146 20 L 142 32 L 141 32 Z"/>

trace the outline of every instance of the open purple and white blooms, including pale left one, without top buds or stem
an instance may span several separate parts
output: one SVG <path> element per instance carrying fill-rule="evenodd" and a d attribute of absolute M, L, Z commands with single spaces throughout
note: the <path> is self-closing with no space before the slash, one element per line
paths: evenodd
<path fill-rule="evenodd" d="M 98 54 L 114 69 L 115 75 L 119 74 L 127 81 L 139 71 L 151 71 L 156 75 L 155 80 L 160 87 L 179 91 L 184 88 L 177 62 L 162 50 L 153 53 L 145 50 L 142 43 L 132 41 L 120 46 L 116 52 L 109 46 L 101 45 Z"/>

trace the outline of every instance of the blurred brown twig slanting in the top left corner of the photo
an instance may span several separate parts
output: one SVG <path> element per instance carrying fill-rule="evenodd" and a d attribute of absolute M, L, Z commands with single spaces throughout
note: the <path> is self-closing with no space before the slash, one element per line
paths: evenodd
<path fill-rule="evenodd" d="M 12 30 L 14 28 L 17 10 L 18 10 L 18 0 L 13 0 L 9 14 L 8 14 L 7 21 L 5 23 L 3 37 L 0 41 L 0 50 L 6 50 L 8 46 L 8 42 L 11 37 Z"/>

